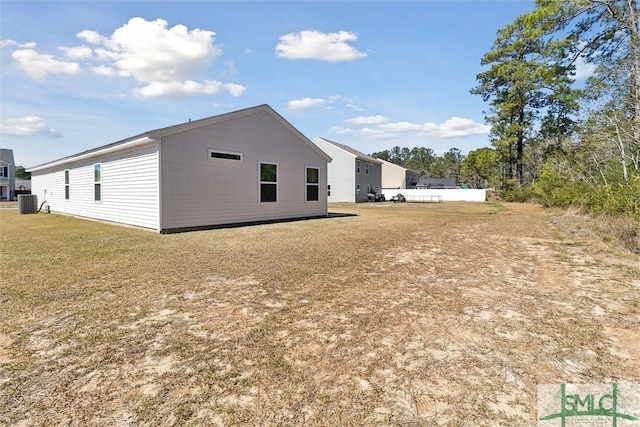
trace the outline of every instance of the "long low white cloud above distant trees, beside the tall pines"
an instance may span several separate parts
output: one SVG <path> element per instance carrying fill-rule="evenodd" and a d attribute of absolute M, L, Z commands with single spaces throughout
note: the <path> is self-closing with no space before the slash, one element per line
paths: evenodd
<path fill-rule="evenodd" d="M 382 124 L 379 126 L 379 129 L 390 132 L 417 131 L 423 135 L 432 135 L 440 138 L 456 138 L 470 135 L 488 134 L 491 130 L 491 127 L 482 123 L 478 123 L 471 119 L 452 117 L 439 125 L 429 122 L 395 122 Z"/>

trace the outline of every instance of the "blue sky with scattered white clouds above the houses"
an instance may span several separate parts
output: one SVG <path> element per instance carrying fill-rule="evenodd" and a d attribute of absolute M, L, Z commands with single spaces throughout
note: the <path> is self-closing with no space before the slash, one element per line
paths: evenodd
<path fill-rule="evenodd" d="M 269 104 L 365 153 L 490 145 L 469 93 L 533 1 L 6 1 L 0 145 L 35 166 Z"/>

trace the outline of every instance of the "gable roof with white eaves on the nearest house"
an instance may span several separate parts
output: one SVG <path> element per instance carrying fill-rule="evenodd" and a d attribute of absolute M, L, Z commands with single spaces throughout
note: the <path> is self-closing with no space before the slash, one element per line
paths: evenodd
<path fill-rule="evenodd" d="M 265 112 L 271 115 L 274 119 L 280 122 L 283 126 L 288 128 L 291 132 L 296 134 L 298 138 L 300 138 L 305 144 L 307 144 L 310 148 L 320 154 L 323 158 L 327 160 L 327 162 L 331 162 L 331 157 L 329 157 L 324 151 L 318 148 L 317 145 L 312 143 L 309 138 L 304 136 L 299 130 L 297 130 L 291 123 L 284 119 L 280 114 L 278 114 L 273 108 L 271 108 L 267 104 L 258 105 L 255 107 L 249 107 L 238 111 L 233 111 L 230 113 L 219 114 L 217 116 L 206 117 L 204 119 L 199 120 L 189 120 L 188 122 L 167 126 L 163 128 L 158 128 L 154 130 L 150 130 L 126 139 L 122 139 L 120 141 L 113 142 L 111 144 L 102 145 L 100 147 L 92 148 L 90 150 L 83 151 L 81 153 L 73 154 L 71 156 L 63 157 L 58 160 L 53 160 L 51 162 L 43 163 L 38 166 L 34 166 L 28 169 L 28 172 L 39 171 L 43 169 L 48 169 L 55 166 L 60 166 L 66 163 L 75 162 L 78 160 L 84 160 L 87 158 L 95 157 L 98 155 L 106 154 L 109 152 L 120 151 L 124 149 L 128 149 L 131 147 L 136 147 L 139 145 L 144 145 L 152 142 L 159 141 L 162 137 L 173 135 L 175 133 L 184 132 L 190 129 L 196 129 L 202 126 L 209 126 L 215 123 L 220 123 L 226 120 L 232 120 L 243 116 L 248 116 L 252 114 L 257 114 Z"/>

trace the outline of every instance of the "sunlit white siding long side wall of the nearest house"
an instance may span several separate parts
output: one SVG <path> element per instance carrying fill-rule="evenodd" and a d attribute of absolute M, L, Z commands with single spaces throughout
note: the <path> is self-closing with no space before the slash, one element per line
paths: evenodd
<path fill-rule="evenodd" d="M 101 163 L 102 200 L 94 200 L 95 163 Z M 69 199 L 65 200 L 65 170 Z M 32 172 L 31 193 L 52 212 L 159 229 L 157 144 Z"/>

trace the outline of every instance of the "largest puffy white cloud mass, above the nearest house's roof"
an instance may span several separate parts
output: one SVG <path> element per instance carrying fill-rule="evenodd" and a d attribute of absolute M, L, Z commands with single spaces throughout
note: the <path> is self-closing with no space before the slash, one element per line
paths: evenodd
<path fill-rule="evenodd" d="M 222 54 L 215 44 L 215 35 L 213 31 L 189 30 L 184 25 L 169 27 L 163 19 L 147 21 L 136 17 L 108 37 L 91 30 L 76 34 L 93 49 L 80 46 L 64 50 L 67 55 L 92 57 L 90 69 L 95 74 L 135 79 L 142 84 L 134 91 L 136 96 L 185 97 L 222 91 L 240 96 L 246 90 L 242 85 L 200 80 Z M 224 65 L 225 75 L 236 73 L 233 62 Z"/>

